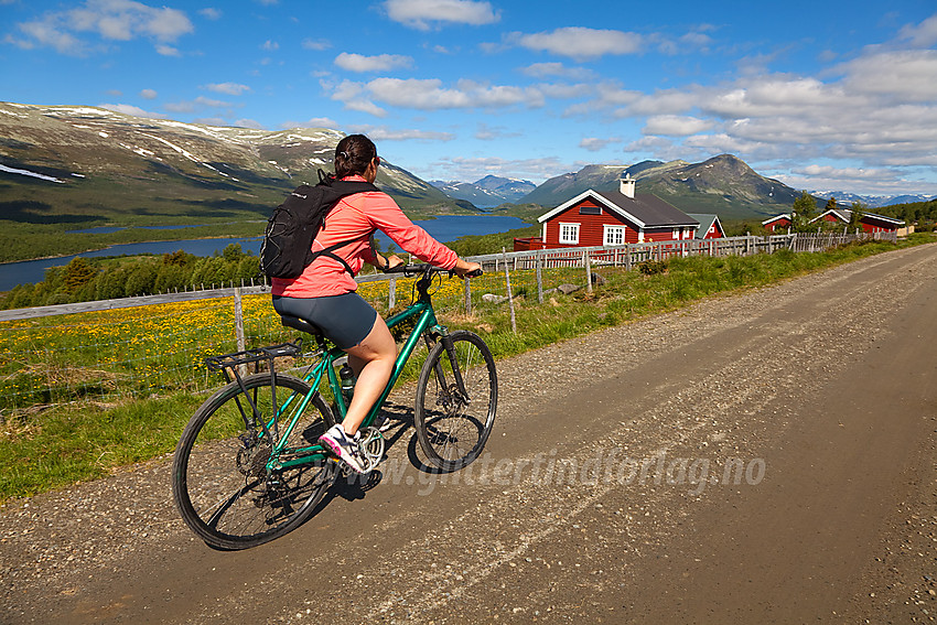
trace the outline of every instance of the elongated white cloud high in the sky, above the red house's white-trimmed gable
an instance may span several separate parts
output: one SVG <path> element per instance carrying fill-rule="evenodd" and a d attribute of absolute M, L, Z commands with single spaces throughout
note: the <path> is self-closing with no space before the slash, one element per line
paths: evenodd
<path fill-rule="evenodd" d="M 516 34 L 517 43 L 536 52 L 550 52 L 575 60 L 597 58 L 606 54 L 642 52 L 644 39 L 637 33 L 567 26 L 552 32 Z"/>

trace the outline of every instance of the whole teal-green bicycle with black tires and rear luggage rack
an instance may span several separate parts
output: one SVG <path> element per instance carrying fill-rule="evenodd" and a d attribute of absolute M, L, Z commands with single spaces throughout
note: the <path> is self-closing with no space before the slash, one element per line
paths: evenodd
<path fill-rule="evenodd" d="M 482 453 L 492 432 L 497 411 L 494 358 L 477 334 L 449 332 L 438 322 L 431 288 L 434 277 L 448 271 L 430 265 L 391 271 L 419 276 L 418 295 L 387 325 L 414 325 L 362 424 L 365 471 L 384 457 L 386 441 L 376 419 L 421 340 L 428 355 L 417 380 L 417 439 L 434 471 L 456 471 Z M 207 358 L 227 384 L 195 411 L 173 457 L 172 492 L 183 520 L 219 549 L 255 547 L 293 530 L 315 513 L 343 471 L 319 437 L 336 422 L 333 408 L 342 419 L 347 409 L 335 371 L 345 353 L 312 324 L 288 316 L 281 321 L 317 344 L 304 375 L 280 374 L 274 366 L 279 358 L 310 356 L 302 353 L 302 337 Z M 250 365 L 255 373 L 245 374 L 241 369 Z M 331 407 L 320 392 L 323 384 L 334 398 Z"/>

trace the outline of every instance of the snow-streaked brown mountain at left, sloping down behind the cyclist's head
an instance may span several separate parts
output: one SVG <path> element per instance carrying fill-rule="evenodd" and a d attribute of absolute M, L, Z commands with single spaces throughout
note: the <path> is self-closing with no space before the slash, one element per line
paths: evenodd
<path fill-rule="evenodd" d="M 331 169 L 343 136 L 0 103 L 0 215 L 72 224 L 266 220 L 287 193 Z M 474 211 L 386 161 L 377 185 L 414 216 Z"/>

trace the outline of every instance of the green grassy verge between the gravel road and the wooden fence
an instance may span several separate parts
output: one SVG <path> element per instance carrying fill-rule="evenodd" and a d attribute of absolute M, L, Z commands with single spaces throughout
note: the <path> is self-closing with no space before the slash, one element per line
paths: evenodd
<path fill-rule="evenodd" d="M 542 305 L 529 282 L 518 281 L 517 334 L 505 304 L 482 304 L 472 315 L 441 315 L 451 327 L 481 334 L 496 357 L 505 357 L 685 306 L 700 299 L 764 287 L 866 256 L 933 241 L 851 245 L 822 254 L 782 251 L 771 256 L 680 258 L 664 271 L 645 274 L 597 269 L 605 284 L 593 293 L 550 293 Z M 581 272 L 572 272 L 571 276 Z M 513 279 L 514 281 L 514 279 Z M 453 287 L 457 289 L 457 284 Z M 411 359 L 412 369 L 421 362 Z M 66 410 L 0 422 L 0 500 L 29 496 L 107 475 L 120 466 L 171 452 L 182 428 L 205 395 L 185 391 L 128 399 L 117 406 L 76 403 Z"/>

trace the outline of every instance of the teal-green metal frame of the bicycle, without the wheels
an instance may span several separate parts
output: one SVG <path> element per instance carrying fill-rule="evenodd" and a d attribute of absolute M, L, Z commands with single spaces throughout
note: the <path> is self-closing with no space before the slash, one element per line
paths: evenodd
<path fill-rule="evenodd" d="M 429 281 L 429 278 L 421 278 L 420 280 Z M 424 284 L 428 287 L 429 284 Z M 418 282 L 419 288 L 419 282 Z M 385 400 L 390 395 L 394 385 L 397 384 L 397 379 L 400 377 L 400 374 L 403 370 L 403 366 L 407 364 L 407 360 L 413 354 L 413 351 L 417 348 L 417 343 L 419 343 L 420 338 L 427 337 L 427 346 L 430 344 L 430 336 L 437 335 L 440 340 L 444 340 L 449 335 L 449 331 L 445 326 L 440 325 L 437 321 L 435 311 L 433 310 L 432 302 L 430 300 L 429 293 L 426 292 L 426 288 L 420 289 L 419 299 L 408 306 L 406 310 L 392 315 L 391 317 L 386 320 L 388 327 L 394 327 L 407 320 L 412 317 L 417 317 L 416 325 L 413 330 L 410 332 L 410 335 L 407 337 L 403 347 L 400 348 L 400 352 L 397 354 L 397 359 L 394 362 L 394 368 L 390 373 L 390 379 L 385 386 L 384 391 L 381 391 L 380 397 L 378 397 L 375 405 L 371 407 L 370 411 L 365 417 L 364 422 L 362 423 L 363 428 L 369 427 L 374 420 L 377 418 L 377 413 L 384 406 Z M 289 423 L 287 424 L 283 434 L 281 437 L 277 437 L 277 432 L 274 432 L 274 438 L 278 438 L 280 441 L 273 448 L 270 460 L 267 462 L 268 471 L 277 471 L 291 466 L 298 466 L 301 464 L 306 464 L 309 462 L 321 461 L 326 456 L 331 456 L 321 444 L 315 443 L 304 448 L 288 448 L 283 444 L 283 441 L 287 441 L 292 433 L 293 429 L 297 425 L 302 413 L 305 411 L 310 401 L 319 394 L 319 387 L 322 384 L 323 378 L 329 380 L 329 386 L 332 389 L 332 394 L 335 398 L 335 405 L 338 407 L 338 414 L 335 414 L 335 420 L 337 423 L 341 423 L 345 418 L 345 413 L 348 410 L 348 407 L 345 406 L 345 398 L 341 392 L 341 384 L 338 382 L 338 377 L 335 375 L 335 360 L 345 356 L 345 352 L 335 346 L 330 346 L 325 343 L 325 340 L 322 338 L 321 335 L 317 336 L 320 347 L 322 348 L 322 356 L 320 357 L 319 363 L 311 366 L 310 370 L 303 375 L 302 379 L 306 384 L 310 385 L 310 392 L 300 396 L 297 394 L 291 395 L 282 406 L 277 408 L 277 417 L 270 419 L 267 423 L 265 430 L 269 431 L 271 428 L 276 429 L 279 423 L 279 417 L 291 410 L 291 406 L 299 401 L 300 403 L 295 407 L 295 410 L 290 418 Z M 457 371 L 457 369 L 456 369 Z M 456 377 L 459 377 L 456 373 Z M 456 384 L 462 387 L 462 380 L 456 379 Z M 274 387 L 276 388 L 276 387 Z M 274 407 L 276 407 L 276 398 L 274 398 Z M 284 457 L 289 457 L 289 460 L 284 460 Z"/>

